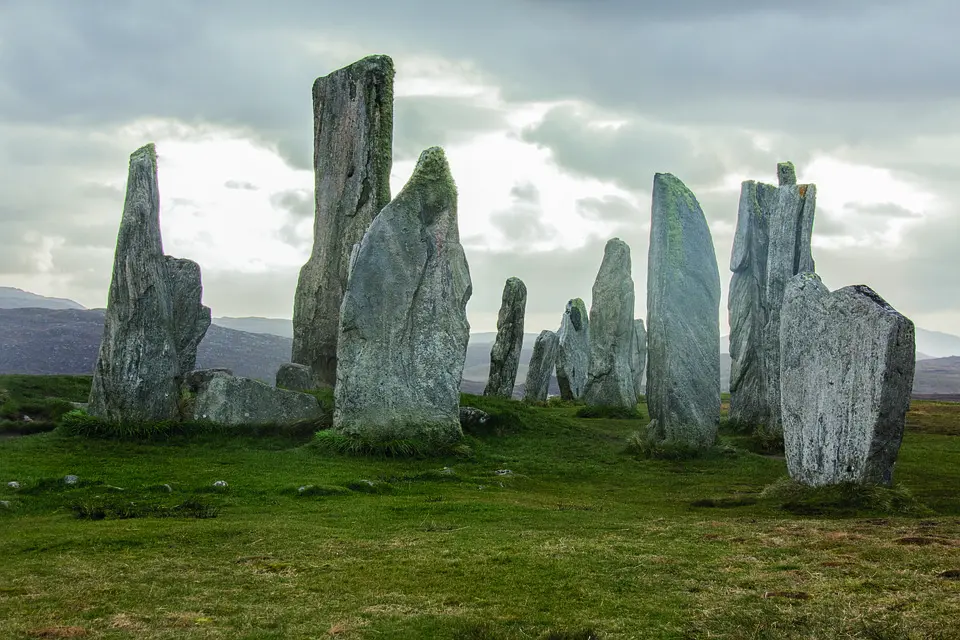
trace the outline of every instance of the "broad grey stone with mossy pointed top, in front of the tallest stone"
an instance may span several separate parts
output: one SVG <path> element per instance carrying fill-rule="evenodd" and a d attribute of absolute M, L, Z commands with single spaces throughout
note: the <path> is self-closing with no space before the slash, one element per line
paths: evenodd
<path fill-rule="evenodd" d="M 470 270 L 443 149 L 420 155 L 354 251 L 337 346 L 334 428 L 452 441 L 470 325 Z"/>

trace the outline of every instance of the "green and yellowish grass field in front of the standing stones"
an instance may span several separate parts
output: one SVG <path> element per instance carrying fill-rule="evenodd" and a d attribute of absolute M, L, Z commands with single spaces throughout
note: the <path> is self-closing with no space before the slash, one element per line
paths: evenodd
<path fill-rule="evenodd" d="M 0 438 L 0 638 L 960 638 L 960 405 L 915 403 L 896 513 L 784 508 L 742 436 L 629 455 L 643 405 L 465 401 L 467 458 Z"/>

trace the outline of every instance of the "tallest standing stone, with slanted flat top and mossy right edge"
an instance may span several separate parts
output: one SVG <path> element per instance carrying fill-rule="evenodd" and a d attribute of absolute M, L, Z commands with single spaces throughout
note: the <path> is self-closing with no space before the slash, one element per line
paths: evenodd
<path fill-rule="evenodd" d="M 393 60 L 370 56 L 313 84 L 313 251 L 293 303 L 291 360 L 319 386 L 337 372 L 340 305 L 351 248 L 390 202 Z"/>

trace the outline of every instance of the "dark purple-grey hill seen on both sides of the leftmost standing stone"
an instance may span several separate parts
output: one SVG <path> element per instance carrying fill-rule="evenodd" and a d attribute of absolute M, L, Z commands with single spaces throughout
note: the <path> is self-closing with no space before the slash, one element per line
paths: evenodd
<path fill-rule="evenodd" d="M 102 309 L 0 309 L 0 374 L 89 374 L 103 334 Z M 197 367 L 227 367 L 273 383 L 290 360 L 291 340 L 213 325 L 197 349 Z"/>

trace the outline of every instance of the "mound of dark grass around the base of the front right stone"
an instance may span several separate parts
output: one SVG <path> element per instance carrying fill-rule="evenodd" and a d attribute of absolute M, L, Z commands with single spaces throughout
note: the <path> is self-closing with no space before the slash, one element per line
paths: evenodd
<path fill-rule="evenodd" d="M 903 485 L 843 482 L 810 487 L 782 477 L 760 493 L 763 501 L 800 515 L 928 515 L 930 510 Z"/>

